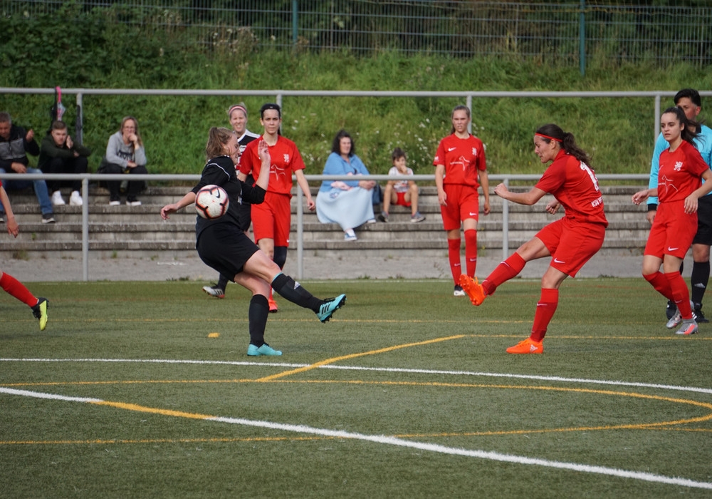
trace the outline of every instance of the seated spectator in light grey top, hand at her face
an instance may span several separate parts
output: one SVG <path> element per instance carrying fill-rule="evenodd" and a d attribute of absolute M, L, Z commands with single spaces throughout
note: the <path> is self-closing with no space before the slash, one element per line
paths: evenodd
<path fill-rule="evenodd" d="M 106 146 L 106 156 L 102 162 L 100 173 L 148 173 L 146 170 L 146 151 L 138 132 L 136 118 L 127 116 L 121 120 L 121 129 L 109 138 Z M 107 180 L 109 190 L 109 205 L 121 204 L 119 197 L 120 180 Z M 140 206 L 137 195 L 142 190 L 144 182 L 128 182 L 126 204 Z"/>

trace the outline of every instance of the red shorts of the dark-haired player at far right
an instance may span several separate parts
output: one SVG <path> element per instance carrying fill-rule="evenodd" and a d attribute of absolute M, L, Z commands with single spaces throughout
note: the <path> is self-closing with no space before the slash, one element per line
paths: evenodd
<path fill-rule="evenodd" d="M 685 213 L 685 202 L 658 205 L 643 254 L 684 258 L 697 232 L 697 213 Z"/>

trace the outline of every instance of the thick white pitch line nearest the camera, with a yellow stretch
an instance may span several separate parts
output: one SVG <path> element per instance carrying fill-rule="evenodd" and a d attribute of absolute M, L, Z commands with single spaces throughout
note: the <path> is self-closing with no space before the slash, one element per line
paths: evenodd
<path fill-rule="evenodd" d="M 577 463 L 567 463 L 564 461 L 550 461 L 547 459 L 538 458 L 528 458 L 525 456 L 513 456 L 510 454 L 502 454 L 491 451 L 478 451 L 469 450 L 464 448 L 454 448 L 441 446 L 434 443 L 425 442 L 413 442 L 402 440 L 397 437 L 389 437 L 383 435 L 366 435 L 365 433 L 351 433 L 348 431 L 335 431 L 328 430 L 325 428 L 313 428 L 311 426 L 305 425 L 293 425 L 286 423 L 271 423 L 269 421 L 254 421 L 251 419 L 244 418 L 227 418 L 221 416 L 208 416 L 199 413 L 188 413 L 184 411 L 173 411 L 160 408 L 151 408 L 146 406 L 140 406 L 132 403 L 122 403 L 122 402 L 112 402 L 105 401 L 100 398 L 88 398 L 88 397 L 73 397 L 59 395 L 55 393 L 41 393 L 36 391 L 28 390 L 16 390 L 9 389 L 0 386 L 0 393 L 6 393 L 8 395 L 16 396 L 26 396 L 33 398 L 43 398 L 58 401 L 68 401 L 68 402 L 81 402 L 81 403 L 92 403 L 99 406 L 109 406 L 114 408 L 125 409 L 128 411 L 138 411 L 144 413 L 160 414 L 163 416 L 174 416 L 180 418 L 190 418 L 199 419 L 203 421 L 216 421 L 219 423 L 229 423 L 238 424 L 241 426 L 253 426 L 257 428 L 269 428 L 273 430 L 289 431 L 294 433 L 308 433 L 312 435 L 320 436 L 330 436 L 334 438 L 348 438 L 360 441 L 368 441 L 373 443 L 382 443 L 391 446 L 415 448 L 421 451 L 429 451 L 441 454 L 450 454 L 454 456 L 466 456 L 471 458 L 486 459 L 489 461 L 500 461 L 503 463 L 513 463 L 513 464 L 524 464 L 524 465 L 538 465 L 544 466 L 546 468 L 557 468 L 560 470 L 571 470 L 578 471 L 581 473 L 595 473 L 599 475 L 615 476 L 619 478 L 632 478 L 634 480 L 643 480 L 646 482 L 654 483 L 665 483 L 668 485 L 681 485 L 690 488 L 702 488 L 707 490 L 712 490 L 712 483 L 709 482 L 699 482 L 696 480 L 690 480 L 689 478 L 679 478 L 679 477 L 668 477 L 664 475 L 656 475 L 654 473 L 646 473 L 642 471 L 630 471 L 630 470 L 620 470 L 618 468 L 608 468 L 607 466 L 597 466 L 597 465 L 587 465 L 587 464 L 577 464 Z"/>

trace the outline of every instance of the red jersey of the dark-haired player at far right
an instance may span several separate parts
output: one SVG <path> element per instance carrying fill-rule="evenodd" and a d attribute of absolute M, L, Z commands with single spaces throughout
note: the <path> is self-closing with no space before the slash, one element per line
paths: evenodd
<path fill-rule="evenodd" d="M 710 167 L 699 151 L 686 140 L 671 153 L 660 153 L 658 202 L 684 201 L 702 185 L 701 175 Z"/>

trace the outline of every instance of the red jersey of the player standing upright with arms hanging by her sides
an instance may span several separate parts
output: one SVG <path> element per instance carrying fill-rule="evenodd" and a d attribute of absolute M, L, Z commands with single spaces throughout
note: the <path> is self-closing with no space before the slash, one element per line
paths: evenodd
<path fill-rule="evenodd" d="M 443 184 L 479 187 L 478 172 L 487 169 L 482 140 L 474 135 L 458 138 L 454 133 L 440 141 L 433 165 L 445 165 Z"/>

